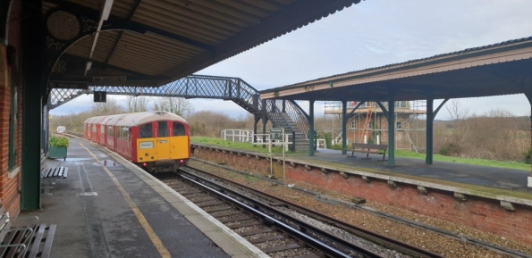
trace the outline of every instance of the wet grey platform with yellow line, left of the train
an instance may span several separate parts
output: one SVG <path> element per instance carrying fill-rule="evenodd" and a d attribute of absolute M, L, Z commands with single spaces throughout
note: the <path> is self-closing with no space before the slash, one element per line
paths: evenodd
<path fill-rule="evenodd" d="M 64 161 L 47 161 L 67 178 L 41 195 L 40 210 L 21 212 L 57 225 L 51 257 L 267 256 L 122 157 L 69 140 Z"/>

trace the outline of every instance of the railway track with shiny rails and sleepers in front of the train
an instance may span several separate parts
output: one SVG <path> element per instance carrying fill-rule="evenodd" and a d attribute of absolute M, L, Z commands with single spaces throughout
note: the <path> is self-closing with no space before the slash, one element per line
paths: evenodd
<path fill-rule="evenodd" d="M 156 177 L 272 257 L 441 257 L 188 167 Z"/>

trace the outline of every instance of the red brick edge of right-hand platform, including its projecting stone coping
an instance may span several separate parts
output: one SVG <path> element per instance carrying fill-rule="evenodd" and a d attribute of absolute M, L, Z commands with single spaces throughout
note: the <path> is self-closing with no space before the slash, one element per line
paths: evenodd
<path fill-rule="evenodd" d="M 224 163 L 239 171 L 270 174 L 269 156 L 213 146 L 191 146 L 195 158 Z M 283 164 L 273 158 L 274 176 L 283 179 Z M 307 182 L 367 201 L 400 207 L 532 244 L 532 200 L 477 190 L 402 179 L 366 171 L 286 159 L 286 178 Z"/>

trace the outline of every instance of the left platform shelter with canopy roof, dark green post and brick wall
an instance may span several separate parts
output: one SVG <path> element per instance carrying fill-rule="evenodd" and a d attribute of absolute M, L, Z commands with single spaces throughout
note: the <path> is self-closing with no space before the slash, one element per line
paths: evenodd
<path fill-rule="evenodd" d="M 0 196 L 16 215 L 40 206 L 51 89 L 159 87 L 359 0 L 0 3 Z"/>

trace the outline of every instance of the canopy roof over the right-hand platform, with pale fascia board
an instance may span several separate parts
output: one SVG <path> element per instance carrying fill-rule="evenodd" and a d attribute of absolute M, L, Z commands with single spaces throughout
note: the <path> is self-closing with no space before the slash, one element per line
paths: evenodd
<path fill-rule="evenodd" d="M 361 61 L 359 61 L 361 62 Z M 262 99 L 396 101 L 532 91 L 532 37 L 261 91 Z"/>

